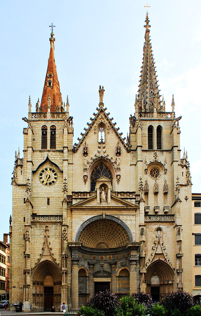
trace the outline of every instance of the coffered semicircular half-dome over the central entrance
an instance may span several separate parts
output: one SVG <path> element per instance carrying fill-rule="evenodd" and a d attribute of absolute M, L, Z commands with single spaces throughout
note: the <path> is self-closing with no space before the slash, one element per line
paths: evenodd
<path fill-rule="evenodd" d="M 75 241 L 89 248 L 118 248 L 133 242 L 133 234 L 128 226 L 115 216 L 101 215 L 84 222 L 75 235 Z"/>

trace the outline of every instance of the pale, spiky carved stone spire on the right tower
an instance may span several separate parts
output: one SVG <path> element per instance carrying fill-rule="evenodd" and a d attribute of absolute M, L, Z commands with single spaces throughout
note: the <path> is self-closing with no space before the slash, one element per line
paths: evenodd
<path fill-rule="evenodd" d="M 145 31 L 145 43 L 143 47 L 143 62 L 142 70 L 139 81 L 138 90 L 138 111 L 153 111 L 154 107 L 157 111 L 164 111 L 161 108 L 161 100 L 159 94 L 159 88 L 157 83 L 157 75 L 154 66 L 154 58 L 152 54 L 151 40 L 150 40 L 150 29 L 148 14 L 146 15 L 144 26 Z"/>

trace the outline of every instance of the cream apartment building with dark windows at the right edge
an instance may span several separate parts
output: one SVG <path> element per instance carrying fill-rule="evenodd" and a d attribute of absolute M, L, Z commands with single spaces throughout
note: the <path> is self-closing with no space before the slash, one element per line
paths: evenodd
<path fill-rule="evenodd" d="M 192 294 L 201 302 L 201 193 L 192 193 Z"/>

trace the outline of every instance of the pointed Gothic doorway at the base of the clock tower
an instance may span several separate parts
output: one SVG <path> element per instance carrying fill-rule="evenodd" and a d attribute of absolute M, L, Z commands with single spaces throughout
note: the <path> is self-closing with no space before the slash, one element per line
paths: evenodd
<path fill-rule="evenodd" d="M 60 310 L 61 271 L 50 260 L 37 264 L 32 272 L 32 306 L 35 310 Z"/>

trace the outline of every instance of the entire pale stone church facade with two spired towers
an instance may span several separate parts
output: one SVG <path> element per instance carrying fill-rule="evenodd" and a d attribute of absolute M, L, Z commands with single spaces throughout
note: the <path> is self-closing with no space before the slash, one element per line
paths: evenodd
<path fill-rule="evenodd" d="M 146 291 L 155 300 L 192 292 L 191 176 L 180 127 L 157 84 L 148 15 L 135 113 L 121 137 L 99 87 L 96 113 L 78 143 L 62 101 L 50 37 L 41 103 L 15 155 L 10 221 L 10 303 L 24 311 L 71 310 L 99 290 Z M 97 95 L 98 97 L 98 95 Z"/>

